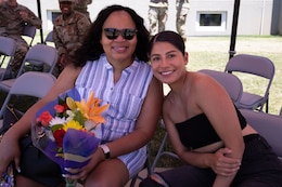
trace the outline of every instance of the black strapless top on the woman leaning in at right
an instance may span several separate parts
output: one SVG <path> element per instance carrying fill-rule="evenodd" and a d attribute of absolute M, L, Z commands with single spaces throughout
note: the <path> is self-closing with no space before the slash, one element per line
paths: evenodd
<path fill-rule="evenodd" d="M 246 120 L 238 109 L 236 113 L 243 130 L 246 126 Z M 177 123 L 176 128 L 181 143 L 189 149 L 196 149 L 220 141 L 205 113 L 200 113 L 187 121 Z"/>

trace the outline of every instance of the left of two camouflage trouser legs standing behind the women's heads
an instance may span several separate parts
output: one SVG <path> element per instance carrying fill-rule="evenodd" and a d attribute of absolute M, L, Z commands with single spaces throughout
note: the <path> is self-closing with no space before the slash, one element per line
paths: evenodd
<path fill-rule="evenodd" d="M 154 36 L 165 30 L 167 22 L 167 0 L 150 0 L 149 3 L 149 31 Z"/>

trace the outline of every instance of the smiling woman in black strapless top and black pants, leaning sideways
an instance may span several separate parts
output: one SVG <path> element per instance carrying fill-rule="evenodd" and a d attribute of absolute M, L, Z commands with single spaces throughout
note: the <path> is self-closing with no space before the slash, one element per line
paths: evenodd
<path fill-rule="evenodd" d="M 189 54 L 181 36 L 159 32 L 149 48 L 154 76 L 171 89 L 162 116 L 174 150 L 185 164 L 153 174 L 140 187 L 282 186 L 280 160 L 223 88 L 187 70 Z"/>

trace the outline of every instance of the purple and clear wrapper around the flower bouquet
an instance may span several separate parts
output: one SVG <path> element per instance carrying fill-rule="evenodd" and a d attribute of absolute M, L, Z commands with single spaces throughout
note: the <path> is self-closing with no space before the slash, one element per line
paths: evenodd
<path fill-rule="evenodd" d="M 66 96 L 78 102 L 80 101 L 80 95 L 76 89 L 72 89 L 60 95 L 62 99 Z M 57 104 L 59 99 L 48 103 L 36 113 L 36 119 L 43 111 L 49 111 L 54 116 L 54 106 Z M 68 129 L 63 138 L 63 152 L 59 153 L 62 148 L 56 145 L 51 130 L 40 126 L 36 122 L 34 122 L 31 126 L 31 137 L 34 145 L 52 161 L 57 163 L 63 174 L 70 174 L 64 170 L 66 168 L 77 169 L 85 166 L 101 143 L 101 139 L 95 137 L 93 133 Z"/>

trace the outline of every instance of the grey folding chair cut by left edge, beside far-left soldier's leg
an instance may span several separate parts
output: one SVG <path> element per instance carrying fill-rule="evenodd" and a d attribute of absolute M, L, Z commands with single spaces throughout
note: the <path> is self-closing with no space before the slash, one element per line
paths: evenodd
<path fill-rule="evenodd" d="M 9 65 L 14 59 L 16 43 L 13 39 L 8 37 L 0 37 L 0 81 L 2 81 L 9 72 Z M 8 58 L 8 59 L 7 59 Z"/>

